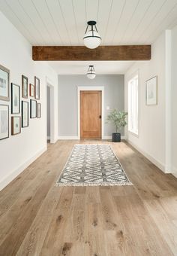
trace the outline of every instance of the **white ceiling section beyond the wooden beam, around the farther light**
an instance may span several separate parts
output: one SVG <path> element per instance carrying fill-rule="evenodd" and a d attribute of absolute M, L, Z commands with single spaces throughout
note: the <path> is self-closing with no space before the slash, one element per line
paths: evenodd
<path fill-rule="evenodd" d="M 59 75 L 86 75 L 89 65 L 95 66 L 97 75 L 124 74 L 133 61 L 49 61 Z"/>

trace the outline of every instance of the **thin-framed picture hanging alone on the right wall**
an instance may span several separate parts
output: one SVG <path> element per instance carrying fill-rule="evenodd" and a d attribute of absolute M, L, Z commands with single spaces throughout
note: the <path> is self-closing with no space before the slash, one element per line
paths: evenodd
<path fill-rule="evenodd" d="M 157 105 L 157 76 L 146 81 L 146 105 Z"/>

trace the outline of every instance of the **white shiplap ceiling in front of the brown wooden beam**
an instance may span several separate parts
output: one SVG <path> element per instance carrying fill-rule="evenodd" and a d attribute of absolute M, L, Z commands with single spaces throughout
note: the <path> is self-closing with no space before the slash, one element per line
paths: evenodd
<path fill-rule="evenodd" d="M 0 10 L 32 45 L 83 45 L 88 20 L 101 44 L 151 44 L 177 23 L 177 0 L 1 0 Z"/>

